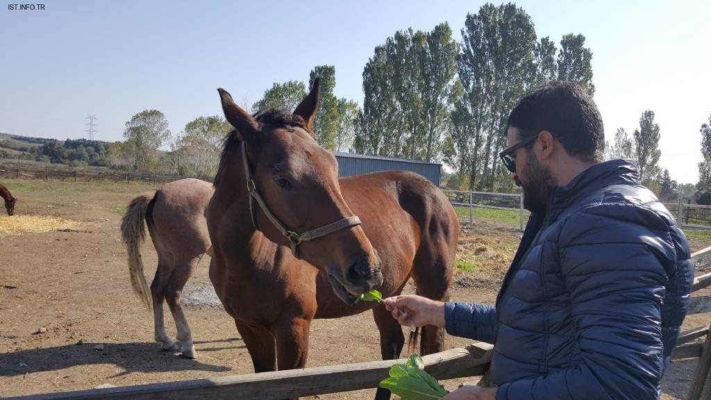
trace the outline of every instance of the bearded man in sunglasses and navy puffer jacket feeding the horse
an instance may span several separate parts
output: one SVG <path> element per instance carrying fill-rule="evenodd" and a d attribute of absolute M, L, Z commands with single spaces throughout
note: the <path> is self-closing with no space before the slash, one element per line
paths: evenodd
<path fill-rule="evenodd" d="M 693 284 L 686 238 L 572 83 L 526 95 L 500 156 L 531 211 L 496 305 L 385 299 L 403 325 L 494 344 L 494 387 L 456 399 L 658 399 Z"/>

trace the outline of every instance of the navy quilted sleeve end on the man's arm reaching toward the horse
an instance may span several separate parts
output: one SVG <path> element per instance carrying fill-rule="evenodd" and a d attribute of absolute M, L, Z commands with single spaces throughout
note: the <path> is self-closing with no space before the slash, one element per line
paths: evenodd
<path fill-rule="evenodd" d="M 444 304 L 447 333 L 493 344 L 496 341 L 496 307 L 493 304 L 447 302 Z"/>

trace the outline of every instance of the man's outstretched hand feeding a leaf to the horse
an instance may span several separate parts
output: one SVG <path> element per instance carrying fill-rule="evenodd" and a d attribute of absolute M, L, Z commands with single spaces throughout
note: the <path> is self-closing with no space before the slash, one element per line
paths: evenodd
<path fill-rule="evenodd" d="M 386 298 L 385 309 L 400 325 L 434 325 L 444 327 L 444 302 L 429 300 L 418 295 L 404 295 Z"/>

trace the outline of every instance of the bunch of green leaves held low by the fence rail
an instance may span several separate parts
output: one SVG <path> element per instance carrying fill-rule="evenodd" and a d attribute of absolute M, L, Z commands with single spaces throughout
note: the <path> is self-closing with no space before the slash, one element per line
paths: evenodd
<path fill-rule="evenodd" d="M 390 377 L 380 381 L 380 387 L 389 389 L 402 400 L 440 399 L 445 390 L 432 375 L 424 372 L 424 362 L 419 354 L 412 354 L 406 364 L 393 364 Z"/>

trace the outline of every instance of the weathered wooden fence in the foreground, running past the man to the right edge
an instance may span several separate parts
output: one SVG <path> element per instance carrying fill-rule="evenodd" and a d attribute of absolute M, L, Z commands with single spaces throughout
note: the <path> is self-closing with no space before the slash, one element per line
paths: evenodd
<path fill-rule="evenodd" d="M 706 263 L 711 258 L 711 247 L 691 256 L 693 263 Z M 711 285 L 711 273 L 694 279 L 693 292 Z M 693 312 L 707 312 L 711 304 L 705 297 L 692 298 Z M 705 342 L 698 342 L 700 337 Z M 454 379 L 481 376 L 488 370 L 493 346 L 476 343 L 467 349 L 450 349 L 422 357 L 425 370 L 433 377 Z M 709 327 L 683 332 L 672 352 L 672 359 L 700 357 L 692 381 L 690 400 L 711 400 L 711 335 Z M 406 362 L 405 359 L 397 362 Z M 120 386 L 106 389 L 65 391 L 53 394 L 34 394 L 11 397 L 14 400 L 277 400 L 296 396 L 314 396 L 378 387 L 387 378 L 387 370 L 394 360 L 341 364 L 327 367 L 292 369 L 261 374 L 231 375 L 213 379 L 196 379 L 139 386 Z"/>

